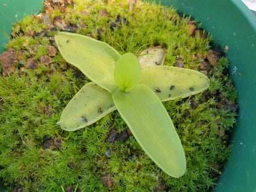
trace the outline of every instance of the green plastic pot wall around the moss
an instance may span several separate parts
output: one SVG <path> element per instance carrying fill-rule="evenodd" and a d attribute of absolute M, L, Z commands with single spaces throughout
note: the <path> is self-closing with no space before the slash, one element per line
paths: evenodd
<path fill-rule="evenodd" d="M 0 0 L 0 53 L 7 41 L 2 31 L 9 35 L 12 23 L 25 13 L 36 13 L 41 3 L 42 0 Z M 240 110 L 231 159 L 214 191 L 256 192 L 256 17 L 240 0 L 162 0 L 161 4 L 173 4 L 178 13 L 201 22 L 202 28 L 214 37 L 214 47 L 224 50 L 228 46 L 226 56 L 239 93 Z"/>

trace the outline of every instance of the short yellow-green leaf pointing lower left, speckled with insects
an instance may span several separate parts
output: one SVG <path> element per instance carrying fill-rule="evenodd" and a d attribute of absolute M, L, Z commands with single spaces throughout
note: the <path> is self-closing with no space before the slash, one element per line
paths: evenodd
<path fill-rule="evenodd" d="M 74 95 L 62 112 L 60 126 L 65 130 L 78 130 L 114 110 L 116 107 L 110 92 L 89 82 Z"/>

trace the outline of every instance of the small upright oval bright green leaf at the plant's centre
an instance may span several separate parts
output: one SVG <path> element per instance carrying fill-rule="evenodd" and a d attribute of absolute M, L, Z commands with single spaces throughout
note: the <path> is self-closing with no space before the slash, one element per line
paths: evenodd
<path fill-rule="evenodd" d="M 124 54 L 116 62 L 114 81 L 122 91 L 128 92 L 140 82 L 140 73 L 140 63 L 137 57 L 131 53 Z"/>

